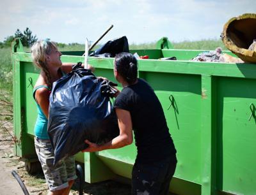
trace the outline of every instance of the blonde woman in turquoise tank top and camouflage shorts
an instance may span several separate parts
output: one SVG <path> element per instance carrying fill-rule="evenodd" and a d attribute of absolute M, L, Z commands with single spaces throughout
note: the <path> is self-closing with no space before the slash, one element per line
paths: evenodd
<path fill-rule="evenodd" d="M 61 62 L 61 52 L 58 51 L 56 43 L 49 40 L 36 41 L 31 52 L 33 62 L 41 69 L 33 92 L 38 111 L 35 124 L 36 154 L 49 186 L 48 194 L 68 194 L 77 178 L 75 159 L 68 157 L 53 166 L 54 150 L 47 134 L 47 123 L 52 83 L 70 72 L 72 64 Z M 93 69 L 92 66 L 90 69 Z"/>

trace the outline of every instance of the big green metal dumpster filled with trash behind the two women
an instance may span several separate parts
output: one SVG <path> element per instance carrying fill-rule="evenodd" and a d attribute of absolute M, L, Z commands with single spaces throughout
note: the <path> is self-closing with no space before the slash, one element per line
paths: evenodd
<path fill-rule="evenodd" d="M 161 42 L 162 41 L 162 42 Z M 256 64 L 189 61 L 200 50 L 174 50 L 161 40 L 155 50 L 131 50 L 139 60 L 139 76 L 155 90 L 177 148 L 175 194 L 256 194 Z M 168 41 L 168 40 L 167 40 Z M 38 76 L 31 54 L 19 40 L 12 48 L 15 154 L 33 162 Z M 82 52 L 63 52 L 61 61 L 83 61 Z M 230 52 L 227 51 L 227 54 Z M 177 61 L 159 60 L 177 57 Z M 113 59 L 89 57 L 95 75 L 115 81 Z M 119 86 L 120 87 L 120 86 Z M 79 153 L 85 181 L 131 178 L 136 147 Z"/>

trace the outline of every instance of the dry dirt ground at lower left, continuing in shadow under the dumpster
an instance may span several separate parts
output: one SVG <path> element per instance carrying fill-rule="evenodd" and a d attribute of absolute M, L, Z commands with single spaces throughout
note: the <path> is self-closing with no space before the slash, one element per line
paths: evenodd
<path fill-rule="evenodd" d="M 8 109 L 3 107 L 1 103 L 3 102 L 0 102 L 0 194 L 24 194 L 19 183 L 12 175 L 13 170 L 19 174 L 29 194 L 47 194 L 48 187 L 45 183 L 44 174 L 38 172 L 36 175 L 29 175 L 24 162 L 20 161 L 20 158 L 13 154 L 12 110 L 9 109 L 10 112 L 8 112 Z M 5 115 L 6 112 L 8 113 L 7 116 Z M 76 182 L 78 182 L 78 180 Z M 72 187 L 70 194 L 79 194 L 78 185 Z M 119 182 L 111 180 L 97 184 L 84 182 L 83 194 L 128 195 L 131 194 L 131 185 L 120 184 Z"/>

